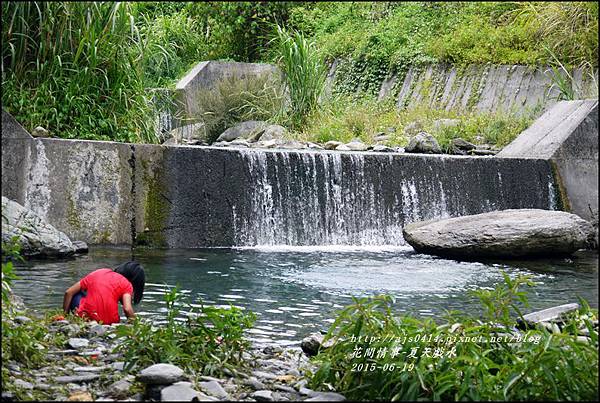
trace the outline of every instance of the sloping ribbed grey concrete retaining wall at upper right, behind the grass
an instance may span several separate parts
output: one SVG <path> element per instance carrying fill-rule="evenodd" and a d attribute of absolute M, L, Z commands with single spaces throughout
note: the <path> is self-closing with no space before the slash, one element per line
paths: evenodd
<path fill-rule="evenodd" d="M 336 71 L 344 60 L 335 60 L 328 85 L 335 87 L 346 77 Z M 570 71 L 577 99 L 598 96 L 598 88 L 582 69 Z M 598 71 L 595 72 L 598 77 Z M 560 91 L 552 84 L 552 70 L 518 65 L 470 65 L 454 67 L 436 64 L 411 67 L 405 75 L 385 78 L 378 94 L 382 100 L 392 96 L 399 109 L 427 106 L 446 110 L 505 111 L 521 113 L 526 109 L 552 106 Z M 330 89 L 331 90 L 331 89 Z"/>

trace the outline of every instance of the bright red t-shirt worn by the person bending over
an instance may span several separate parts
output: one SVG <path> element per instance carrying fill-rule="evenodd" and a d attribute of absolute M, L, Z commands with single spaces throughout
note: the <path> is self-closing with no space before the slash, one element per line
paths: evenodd
<path fill-rule="evenodd" d="M 87 295 L 81 298 L 77 315 L 102 321 L 105 325 L 118 323 L 119 301 L 123 294 L 133 295 L 133 286 L 124 276 L 111 269 L 98 269 L 79 281 Z"/>

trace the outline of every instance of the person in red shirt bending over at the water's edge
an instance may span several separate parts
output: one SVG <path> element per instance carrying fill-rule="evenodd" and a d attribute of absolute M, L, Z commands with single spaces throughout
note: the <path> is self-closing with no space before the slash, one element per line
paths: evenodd
<path fill-rule="evenodd" d="M 65 291 L 63 309 L 110 325 L 120 321 L 121 301 L 125 316 L 133 319 L 132 301 L 138 304 L 142 300 L 145 282 L 144 268 L 137 262 L 123 263 L 114 270 L 98 269 Z"/>

